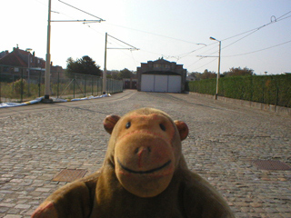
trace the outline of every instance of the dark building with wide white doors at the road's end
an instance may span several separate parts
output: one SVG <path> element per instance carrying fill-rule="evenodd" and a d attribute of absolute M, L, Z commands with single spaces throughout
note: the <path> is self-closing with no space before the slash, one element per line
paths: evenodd
<path fill-rule="evenodd" d="M 183 93 L 186 84 L 186 69 L 183 64 L 161 58 L 141 63 L 137 67 L 137 90 L 143 92 Z"/>

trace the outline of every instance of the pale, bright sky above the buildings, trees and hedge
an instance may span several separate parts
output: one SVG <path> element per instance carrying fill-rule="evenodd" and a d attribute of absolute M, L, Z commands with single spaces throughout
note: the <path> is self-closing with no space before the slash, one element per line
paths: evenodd
<path fill-rule="evenodd" d="M 32 48 L 45 59 L 48 0 L 0 0 L 0 52 Z M 139 48 L 107 49 L 107 69 L 136 70 L 160 57 L 188 72 L 221 73 L 248 67 L 256 74 L 291 72 L 291 0 L 62 0 L 102 23 L 51 23 L 51 61 L 66 67 L 68 57 L 92 57 L 104 68 L 105 33 Z M 94 20 L 52 0 L 52 21 Z M 245 34 L 244 34 L 245 33 Z M 108 48 L 129 48 L 108 37 Z M 208 56 L 208 57 L 201 57 Z M 210 57 L 209 57 L 210 56 Z"/>

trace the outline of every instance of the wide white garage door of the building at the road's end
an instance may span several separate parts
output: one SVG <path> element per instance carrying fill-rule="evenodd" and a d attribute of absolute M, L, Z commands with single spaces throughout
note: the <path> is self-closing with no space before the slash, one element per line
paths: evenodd
<path fill-rule="evenodd" d="M 181 93 L 181 76 L 142 74 L 141 91 L 158 93 Z"/>

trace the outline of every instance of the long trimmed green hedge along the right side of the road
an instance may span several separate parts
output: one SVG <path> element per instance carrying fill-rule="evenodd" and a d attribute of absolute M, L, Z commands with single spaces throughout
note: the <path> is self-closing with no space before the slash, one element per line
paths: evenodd
<path fill-rule="evenodd" d="M 216 79 L 191 81 L 187 85 L 190 92 L 216 94 Z M 291 107 L 291 74 L 222 77 L 218 96 Z"/>

